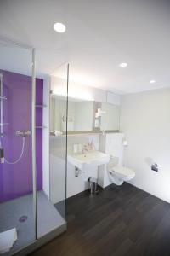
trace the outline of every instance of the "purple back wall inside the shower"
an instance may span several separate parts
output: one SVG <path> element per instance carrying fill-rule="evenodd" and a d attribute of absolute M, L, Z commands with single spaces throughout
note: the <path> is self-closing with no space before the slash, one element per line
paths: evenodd
<path fill-rule="evenodd" d="M 20 156 L 22 137 L 18 130 L 31 130 L 31 77 L 0 71 L 3 73 L 3 123 L 1 138 L 5 158 L 13 161 Z M 37 79 L 37 104 L 42 104 L 43 80 Z M 42 108 L 37 108 L 37 125 L 42 125 Z M 42 129 L 37 129 L 37 189 L 42 189 Z M 0 201 L 8 201 L 32 191 L 31 136 L 26 137 L 22 159 L 15 165 L 0 164 Z"/>

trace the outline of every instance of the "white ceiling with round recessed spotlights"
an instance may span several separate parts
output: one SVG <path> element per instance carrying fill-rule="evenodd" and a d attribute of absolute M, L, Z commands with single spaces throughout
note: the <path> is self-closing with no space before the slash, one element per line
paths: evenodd
<path fill-rule="evenodd" d="M 169 0 L 0 1 L 0 35 L 36 47 L 39 75 L 70 62 L 72 81 L 115 92 L 170 86 L 169 25 Z M 23 70 L 17 56 L 6 66 Z"/>

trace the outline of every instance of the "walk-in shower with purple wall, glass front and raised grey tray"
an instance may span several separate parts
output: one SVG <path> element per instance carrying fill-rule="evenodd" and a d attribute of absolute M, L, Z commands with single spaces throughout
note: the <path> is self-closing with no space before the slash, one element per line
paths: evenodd
<path fill-rule="evenodd" d="M 66 222 L 50 195 L 49 79 L 36 78 L 31 47 L 0 38 L 0 55 L 0 237 L 17 236 L 8 247 L 0 239 L 0 253 L 19 255 L 57 236 Z M 65 183 L 60 189 L 65 203 Z"/>

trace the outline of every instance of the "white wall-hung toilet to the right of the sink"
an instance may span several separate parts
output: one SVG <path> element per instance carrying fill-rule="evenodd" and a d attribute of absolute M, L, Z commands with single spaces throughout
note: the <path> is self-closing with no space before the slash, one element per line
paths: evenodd
<path fill-rule="evenodd" d="M 135 172 L 124 166 L 118 165 L 119 158 L 111 156 L 107 164 L 108 176 L 111 183 L 121 186 L 124 181 L 131 180 L 135 176 Z"/>

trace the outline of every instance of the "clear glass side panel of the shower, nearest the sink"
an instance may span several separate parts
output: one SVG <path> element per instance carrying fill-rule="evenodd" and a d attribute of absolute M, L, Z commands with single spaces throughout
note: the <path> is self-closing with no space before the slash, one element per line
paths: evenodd
<path fill-rule="evenodd" d="M 63 65 L 51 76 L 50 94 L 50 200 L 65 223 L 67 169 L 67 109 L 69 65 Z"/>

